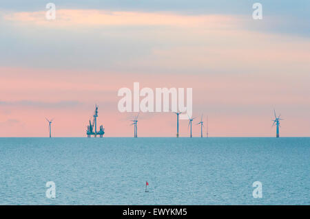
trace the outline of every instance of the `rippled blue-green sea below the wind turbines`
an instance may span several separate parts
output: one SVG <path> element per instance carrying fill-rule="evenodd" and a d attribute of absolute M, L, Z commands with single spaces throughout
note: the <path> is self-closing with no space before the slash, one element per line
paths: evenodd
<path fill-rule="evenodd" d="M 309 204 L 309 137 L 0 138 L 0 205 Z"/>

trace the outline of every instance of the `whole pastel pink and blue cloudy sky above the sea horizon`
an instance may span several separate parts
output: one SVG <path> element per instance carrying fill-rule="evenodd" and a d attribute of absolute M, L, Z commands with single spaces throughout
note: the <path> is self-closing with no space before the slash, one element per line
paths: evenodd
<path fill-rule="evenodd" d="M 132 137 L 136 113 L 118 111 L 117 93 L 134 82 L 192 88 L 194 137 L 202 114 L 210 137 L 273 137 L 273 109 L 280 136 L 309 137 L 309 12 L 286 0 L 1 1 L 0 137 L 48 137 L 45 117 L 54 137 L 85 137 L 95 104 L 105 137 Z M 141 113 L 138 136 L 176 136 L 176 115 Z"/>

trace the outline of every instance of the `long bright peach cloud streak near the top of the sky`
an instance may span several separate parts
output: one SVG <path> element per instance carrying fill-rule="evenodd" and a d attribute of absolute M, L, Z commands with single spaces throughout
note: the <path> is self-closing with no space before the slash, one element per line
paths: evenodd
<path fill-rule="evenodd" d="M 56 10 L 56 19 L 45 19 L 45 11 L 13 12 L 5 14 L 3 19 L 22 23 L 49 26 L 72 25 L 174 25 L 227 28 L 240 22 L 237 16 L 229 15 L 184 15 L 172 12 L 126 12 L 106 10 Z"/>

